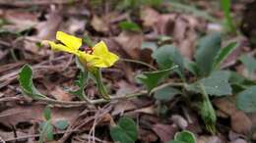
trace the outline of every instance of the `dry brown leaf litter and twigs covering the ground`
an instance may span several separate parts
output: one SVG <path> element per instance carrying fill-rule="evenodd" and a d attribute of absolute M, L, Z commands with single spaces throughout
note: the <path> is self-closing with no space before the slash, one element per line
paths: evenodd
<path fill-rule="evenodd" d="M 57 30 L 78 36 L 90 35 L 94 41 L 103 39 L 110 50 L 123 59 L 146 61 L 157 67 L 151 57 L 154 50 L 146 53 L 142 49 L 145 42 L 154 42 L 157 48 L 172 44 L 183 57 L 193 61 L 200 34 L 208 31 L 210 25 L 213 25 L 213 22 L 208 22 L 208 18 L 178 11 L 162 12 L 154 6 L 140 6 L 139 9 L 126 12 L 120 10 L 122 8 L 112 8 L 113 2 L 98 2 L 99 5 L 95 4 L 96 6 L 88 0 L 0 2 L 0 140 L 35 142 L 39 136 L 39 124 L 45 120 L 42 113 L 46 103 L 25 97 L 18 85 L 17 76 L 24 64 L 32 65 L 33 80 L 43 94 L 60 103 L 79 100 L 68 92 L 76 88 L 73 81 L 79 71 L 75 59 L 67 54 L 52 53 L 39 44 L 42 39 L 54 39 Z M 162 5 L 160 8 L 169 6 L 164 3 Z M 198 2 L 198 5 L 202 8 L 206 6 L 215 12 L 211 4 Z M 219 15 L 219 12 L 214 14 Z M 2 20 L 5 23 L 2 24 Z M 121 29 L 119 23 L 124 21 L 138 24 L 141 30 L 132 31 L 129 27 Z M 215 25 L 218 27 L 211 30 L 223 30 L 219 28 L 222 25 Z M 238 69 L 237 72 L 248 76 L 248 69 L 239 67 L 239 56 L 254 51 L 246 40 L 247 37 L 242 37 L 242 40 L 238 41 L 237 48 L 222 66 L 225 69 Z M 134 79 L 136 73 L 142 71 L 147 71 L 147 66 L 120 61 L 112 69 L 104 70 L 103 76 L 111 93 L 122 95 L 142 90 L 143 87 Z M 174 81 L 177 79 L 176 76 L 171 77 Z M 193 78 L 189 80 L 193 81 Z M 180 88 L 174 89 L 181 93 Z M 87 95 L 96 99 L 96 94 L 96 88 L 90 81 Z M 159 101 L 148 94 L 99 105 L 52 104 L 52 124 L 59 120 L 68 122 L 66 130 L 54 129 L 54 139 L 74 143 L 110 142 L 110 122 L 117 122 L 122 116 L 135 119 L 139 131 L 138 140 L 146 143 L 167 142 L 182 129 L 194 132 L 200 143 L 246 143 L 246 136 L 249 133 L 255 134 L 251 132 L 251 128 L 255 127 L 255 114 L 248 115 L 237 110 L 234 103 L 230 102 L 234 100 L 234 95 L 217 98 L 213 102 L 220 119 L 217 126 L 224 128 L 217 135 L 205 132 L 202 120 L 195 111 L 188 110 L 188 105 L 182 104 L 182 98 L 175 94 L 167 101 Z M 230 137 L 233 132 L 238 135 Z"/>

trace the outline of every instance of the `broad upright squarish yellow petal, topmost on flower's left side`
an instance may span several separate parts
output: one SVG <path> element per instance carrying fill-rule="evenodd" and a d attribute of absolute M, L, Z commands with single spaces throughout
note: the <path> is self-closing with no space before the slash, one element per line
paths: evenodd
<path fill-rule="evenodd" d="M 73 35 L 69 35 L 62 31 L 57 31 L 56 39 L 61 41 L 67 47 L 73 48 L 74 50 L 78 50 L 82 45 L 82 39 L 75 37 Z"/>

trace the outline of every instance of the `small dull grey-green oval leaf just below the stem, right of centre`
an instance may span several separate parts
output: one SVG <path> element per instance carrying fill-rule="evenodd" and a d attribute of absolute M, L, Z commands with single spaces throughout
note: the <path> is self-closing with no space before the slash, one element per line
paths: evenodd
<path fill-rule="evenodd" d="M 154 97 L 158 100 L 169 101 L 175 95 L 180 94 L 180 93 L 181 92 L 178 89 L 175 89 L 172 87 L 164 87 L 164 88 L 156 91 Z"/>

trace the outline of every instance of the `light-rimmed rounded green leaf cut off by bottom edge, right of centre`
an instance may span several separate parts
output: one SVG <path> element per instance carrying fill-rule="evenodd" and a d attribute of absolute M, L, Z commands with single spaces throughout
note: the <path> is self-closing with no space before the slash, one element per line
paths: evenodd
<path fill-rule="evenodd" d="M 174 136 L 174 140 L 167 143 L 196 143 L 196 137 L 192 132 L 184 130 L 177 132 Z"/>

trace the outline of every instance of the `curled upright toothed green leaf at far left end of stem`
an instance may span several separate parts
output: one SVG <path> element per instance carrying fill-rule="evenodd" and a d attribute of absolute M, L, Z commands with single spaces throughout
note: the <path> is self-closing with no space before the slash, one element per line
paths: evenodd
<path fill-rule="evenodd" d="M 25 65 L 19 72 L 18 77 L 20 86 L 23 92 L 30 96 L 32 99 L 45 98 L 32 83 L 32 68 L 29 65 Z"/>

